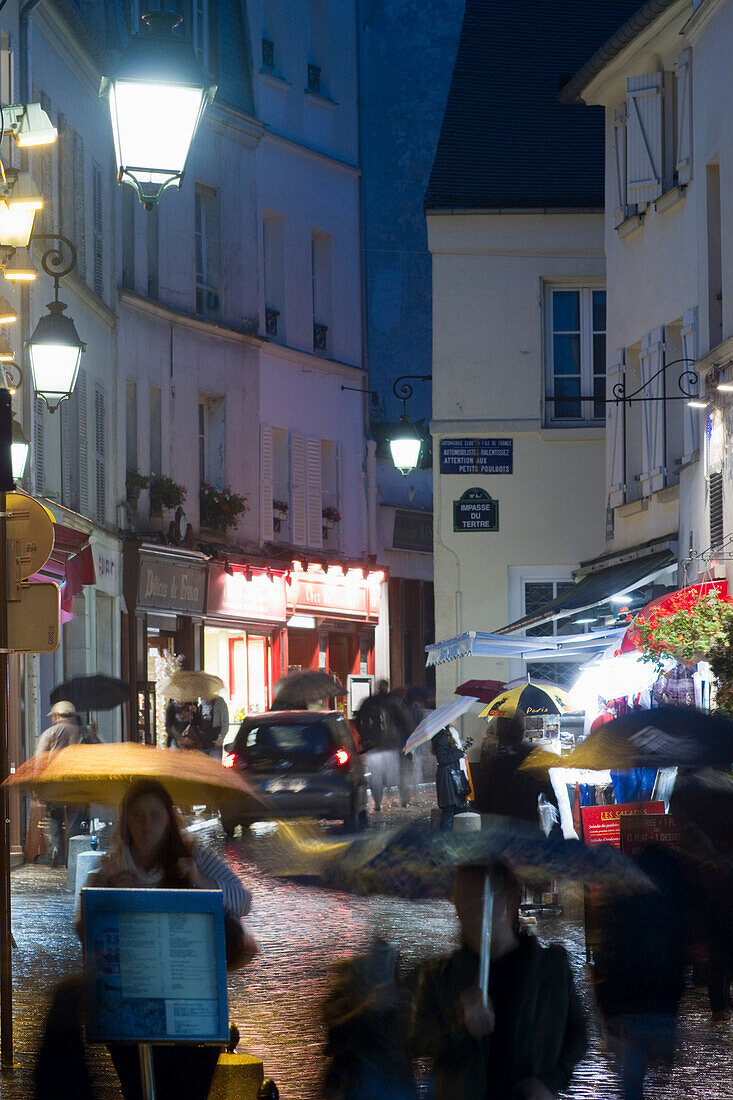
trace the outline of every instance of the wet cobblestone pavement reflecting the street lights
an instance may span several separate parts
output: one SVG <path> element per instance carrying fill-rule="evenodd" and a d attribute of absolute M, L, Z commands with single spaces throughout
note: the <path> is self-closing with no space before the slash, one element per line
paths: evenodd
<path fill-rule="evenodd" d="M 408 811 L 387 809 L 373 827 L 426 812 L 427 803 Z M 248 1048 L 262 1057 L 265 1072 L 277 1081 L 283 1100 L 317 1100 L 324 1068 L 318 1003 L 327 988 L 329 965 L 363 950 L 375 932 L 398 946 L 408 966 L 428 955 L 447 953 L 456 941 L 452 906 L 437 901 L 353 898 L 275 880 L 263 870 L 262 838 L 250 835 L 227 843 L 214 823 L 204 827 L 203 838 L 226 854 L 254 894 L 248 925 L 261 953 L 250 967 L 231 975 L 229 982 L 230 1018 L 242 1034 L 240 1050 Z M 19 1065 L 14 1074 L 0 1078 L 2 1100 L 33 1096 L 32 1066 L 48 993 L 58 978 L 80 967 L 81 953 L 72 927 L 73 900 L 65 884 L 65 871 L 50 867 L 26 866 L 12 872 Z M 537 932 L 545 941 L 565 944 L 590 1003 L 582 924 L 572 908 L 559 916 L 541 917 Z M 711 1023 L 707 999 L 694 991 L 685 998 L 681 1023 L 676 1065 L 652 1078 L 649 1100 L 733 1098 L 733 1026 Z M 106 1050 L 95 1049 L 91 1062 L 100 1100 L 119 1100 Z M 619 1096 L 597 1030 L 590 1055 L 567 1096 L 577 1100 Z"/>

